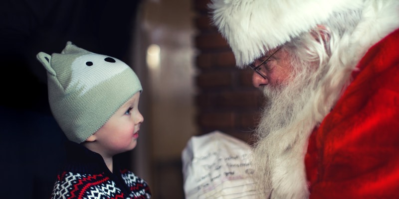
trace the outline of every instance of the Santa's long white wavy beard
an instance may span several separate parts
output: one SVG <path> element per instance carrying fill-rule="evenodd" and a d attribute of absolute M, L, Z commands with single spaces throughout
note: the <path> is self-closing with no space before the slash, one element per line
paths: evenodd
<path fill-rule="evenodd" d="M 309 67 L 310 68 L 310 67 Z M 257 189 L 268 198 L 307 198 L 304 167 L 307 140 L 316 121 L 312 95 L 317 73 L 297 73 L 288 84 L 266 86 L 267 104 L 256 129 L 253 164 Z"/>

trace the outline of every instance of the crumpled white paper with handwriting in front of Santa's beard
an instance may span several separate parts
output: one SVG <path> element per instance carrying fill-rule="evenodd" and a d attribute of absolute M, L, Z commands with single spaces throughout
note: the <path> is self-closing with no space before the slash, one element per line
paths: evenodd
<path fill-rule="evenodd" d="M 213 131 L 193 136 L 182 152 L 186 199 L 255 199 L 251 147 Z"/>

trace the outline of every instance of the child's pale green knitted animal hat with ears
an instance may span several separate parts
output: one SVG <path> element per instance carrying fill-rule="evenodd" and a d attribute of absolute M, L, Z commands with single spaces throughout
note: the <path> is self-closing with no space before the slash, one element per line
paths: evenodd
<path fill-rule="evenodd" d="M 79 48 L 68 41 L 62 52 L 36 58 L 47 70 L 51 112 L 66 137 L 85 141 L 135 93 L 139 79 L 124 62 Z"/>

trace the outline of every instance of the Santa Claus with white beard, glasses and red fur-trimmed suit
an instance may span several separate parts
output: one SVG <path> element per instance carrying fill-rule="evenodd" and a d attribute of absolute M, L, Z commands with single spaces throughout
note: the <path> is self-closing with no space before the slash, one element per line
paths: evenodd
<path fill-rule="evenodd" d="M 211 0 L 267 98 L 263 198 L 399 198 L 399 1 Z"/>

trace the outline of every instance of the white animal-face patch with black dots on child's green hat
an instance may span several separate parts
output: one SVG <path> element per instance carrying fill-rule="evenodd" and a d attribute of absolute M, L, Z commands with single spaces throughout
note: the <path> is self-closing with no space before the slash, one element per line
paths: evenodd
<path fill-rule="evenodd" d="M 113 78 L 127 68 L 129 68 L 128 65 L 116 58 L 95 53 L 82 55 L 71 65 L 71 80 L 66 90 L 77 89 L 82 96 L 91 88 Z"/>

